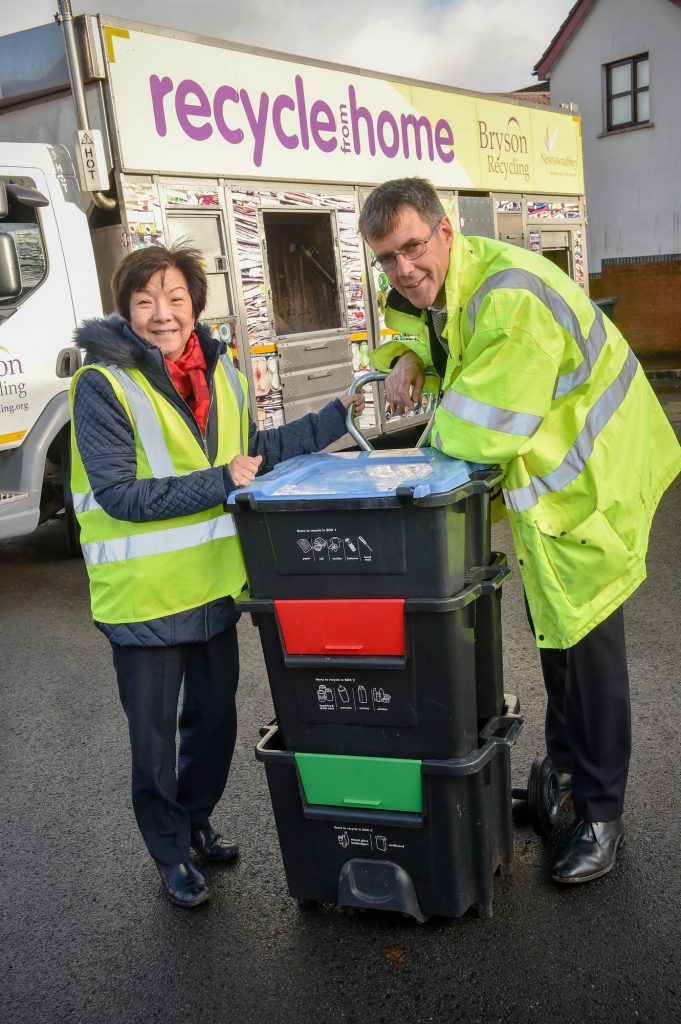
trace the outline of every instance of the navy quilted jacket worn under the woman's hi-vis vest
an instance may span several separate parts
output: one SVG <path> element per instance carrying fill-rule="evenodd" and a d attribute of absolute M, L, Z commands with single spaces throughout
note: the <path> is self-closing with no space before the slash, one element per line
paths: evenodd
<path fill-rule="evenodd" d="M 206 358 L 206 377 L 213 374 L 225 346 L 205 328 L 197 334 Z M 143 341 L 120 316 L 86 321 L 75 342 L 86 350 L 86 365 L 114 362 L 135 367 L 168 398 L 203 445 L 201 430 L 187 403 L 170 380 L 161 350 Z M 76 440 L 95 499 L 109 515 L 132 522 L 170 519 L 213 508 L 235 488 L 226 466 L 197 470 L 185 476 L 136 479 L 135 443 L 130 421 L 109 381 L 98 373 L 84 373 L 74 396 Z M 310 413 L 272 430 L 258 430 L 251 422 L 249 451 L 261 455 L 261 472 L 296 455 L 318 452 L 345 433 L 345 408 L 335 398 L 320 413 Z M 217 410 L 211 408 L 206 425 L 211 463 L 217 453 Z M 163 646 L 209 640 L 236 623 L 238 612 L 229 597 L 146 623 L 96 623 L 112 643 Z"/>

